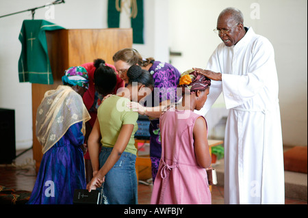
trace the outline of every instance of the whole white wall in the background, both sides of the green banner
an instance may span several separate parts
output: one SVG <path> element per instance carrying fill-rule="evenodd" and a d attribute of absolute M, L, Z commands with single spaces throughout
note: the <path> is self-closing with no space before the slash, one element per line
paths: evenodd
<path fill-rule="evenodd" d="M 18 12 L 49 1 L 1 0 L 0 15 Z M 36 11 L 36 19 L 49 20 L 66 29 L 107 28 L 107 0 L 66 0 Z M 260 18 L 251 19 L 251 3 L 259 3 Z M 307 1 L 306 0 L 144 0 L 144 44 L 133 44 L 143 57 L 168 62 L 181 72 L 205 67 L 220 43 L 213 33 L 220 11 L 240 8 L 245 25 L 270 39 L 276 51 L 280 85 L 281 122 L 285 144 L 307 146 Z M 50 11 L 49 11 L 50 12 Z M 31 84 L 18 82 L 21 43 L 18 34 L 30 12 L 0 18 L 0 107 L 15 109 L 16 149 L 32 144 Z M 125 25 L 125 21 L 121 24 Z M 127 24 L 127 22 L 126 22 Z M 168 51 L 182 57 L 168 57 Z M 216 107 L 223 105 L 218 100 Z"/>

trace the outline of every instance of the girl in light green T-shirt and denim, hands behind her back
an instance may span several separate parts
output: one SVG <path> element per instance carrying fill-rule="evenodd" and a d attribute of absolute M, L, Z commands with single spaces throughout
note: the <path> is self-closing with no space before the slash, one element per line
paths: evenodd
<path fill-rule="evenodd" d="M 94 73 L 94 83 L 99 77 L 107 77 L 98 72 Z M 150 72 L 142 70 L 138 65 L 131 66 L 127 76 L 127 87 L 101 103 L 88 138 L 93 178 L 87 189 L 91 191 L 101 187 L 103 204 L 138 204 L 135 170 L 137 150 L 134 140 L 138 129 L 138 112 L 129 109 L 127 103 L 131 100 L 139 102 L 151 94 L 154 83 Z M 110 80 L 111 77 L 108 82 Z M 100 144 L 102 147 L 99 153 Z"/>

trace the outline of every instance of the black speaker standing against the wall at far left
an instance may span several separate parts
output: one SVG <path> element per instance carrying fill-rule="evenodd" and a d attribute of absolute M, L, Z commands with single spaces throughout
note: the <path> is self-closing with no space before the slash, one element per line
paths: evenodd
<path fill-rule="evenodd" d="M 16 158 L 15 111 L 0 108 L 0 163 L 12 163 Z"/>

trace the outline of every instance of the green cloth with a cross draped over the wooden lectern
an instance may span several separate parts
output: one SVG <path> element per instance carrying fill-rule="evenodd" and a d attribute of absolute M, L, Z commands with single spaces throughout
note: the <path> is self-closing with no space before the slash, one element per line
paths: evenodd
<path fill-rule="evenodd" d="M 19 33 L 19 82 L 53 84 L 45 31 L 64 29 L 44 20 L 25 20 Z"/>

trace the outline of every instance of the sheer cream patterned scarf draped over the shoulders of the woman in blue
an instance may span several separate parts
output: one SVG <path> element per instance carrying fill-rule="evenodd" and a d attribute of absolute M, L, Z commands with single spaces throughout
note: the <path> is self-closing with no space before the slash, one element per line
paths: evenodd
<path fill-rule="evenodd" d="M 43 154 L 77 122 L 83 121 L 81 132 L 85 135 L 90 118 L 81 96 L 71 87 L 59 85 L 56 90 L 47 91 L 36 113 L 36 137 Z"/>

